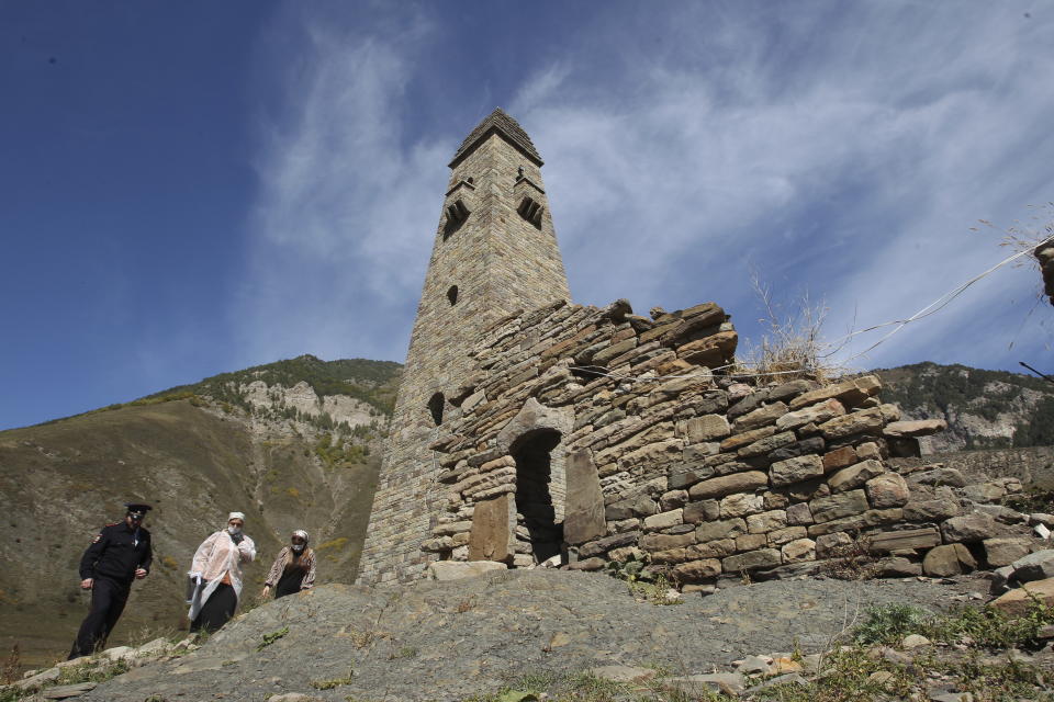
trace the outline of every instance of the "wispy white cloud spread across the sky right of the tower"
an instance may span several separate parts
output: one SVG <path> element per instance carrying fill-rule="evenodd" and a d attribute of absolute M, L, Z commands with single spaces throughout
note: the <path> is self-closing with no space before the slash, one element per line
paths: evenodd
<path fill-rule="evenodd" d="M 750 332 L 749 260 L 826 298 L 841 330 L 911 315 L 1002 257 L 968 228 L 1054 192 L 1054 22 L 978 3 L 840 12 L 672 13 L 660 32 L 697 27 L 706 56 L 605 24 L 579 52 L 619 47 L 608 91 L 587 63 L 539 68 L 514 105 L 549 157 L 578 297 L 716 298 Z M 1011 339 L 1034 351 L 1049 335 L 1020 325 L 1035 285 L 995 276 L 862 362 L 1007 365 Z"/>

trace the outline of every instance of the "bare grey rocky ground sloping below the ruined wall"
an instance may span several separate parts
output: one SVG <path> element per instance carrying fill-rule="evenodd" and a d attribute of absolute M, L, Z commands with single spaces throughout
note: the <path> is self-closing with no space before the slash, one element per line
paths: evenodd
<path fill-rule="evenodd" d="M 259 607 L 199 649 L 133 668 L 77 699 L 463 700 L 525 676 L 601 666 L 679 677 L 732 671 L 753 655 L 829 650 L 871 605 L 937 612 L 980 603 L 988 590 L 985 574 L 810 577 L 658 605 L 605 575 L 541 569 L 399 588 L 330 585 Z M 1050 666 L 1049 654 L 1035 661 Z"/>

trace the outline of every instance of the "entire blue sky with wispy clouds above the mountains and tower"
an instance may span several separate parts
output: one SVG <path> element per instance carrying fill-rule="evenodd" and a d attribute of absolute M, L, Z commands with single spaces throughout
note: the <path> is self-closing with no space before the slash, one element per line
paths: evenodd
<path fill-rule="evenodd" d="M 575 302 L 713 299 L 756 340 L 756 273 L 831 339 L 910 316 L 1051 218 L 1052 47 L 1013 0 L 2 3 L 0 429 L 402 361 L 446 163 L 497 105 Z M 1054 370 L 1039 287 L 1001 269 L 851 365 Z"/>

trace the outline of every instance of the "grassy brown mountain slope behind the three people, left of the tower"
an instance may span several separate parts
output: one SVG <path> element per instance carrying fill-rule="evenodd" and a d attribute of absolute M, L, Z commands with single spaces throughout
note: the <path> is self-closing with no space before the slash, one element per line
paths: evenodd
<path fill-rule="evenodd" d="M 77 564 L 127 500 L 155 506 L 156 554 L 114 643 L 180 623 L 190 557 L 233 510 L 246 513 L 259 551 L 246 595 L 295 528 L 312 534 L 319 581 L 349 581 L 399 367 L 301 356 L 0 432 L 0 510 L 12 534 L 0 542 L 0 643 L 19 641 L 29 660 L 68 646 L 89 598 Z"/>

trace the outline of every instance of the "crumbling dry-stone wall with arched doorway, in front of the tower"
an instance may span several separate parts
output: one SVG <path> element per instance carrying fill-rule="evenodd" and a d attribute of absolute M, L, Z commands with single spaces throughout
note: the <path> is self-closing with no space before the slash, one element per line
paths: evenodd
<path fill-rule="evenodd" d="M 1006 530 L 991 514 L 966 514 L 932 482 L 912 488 L 889 469 L 890 453 L 917 455 L 916 438 L 940 421 L 898 421 L 875 376 L 748 385 L 711 372 L 736 342 L 713 303 L 654 319 L 624 301 L 559 303 L 495 324 L 472 352 L 456 416 L 430 444 L 446 514 L 422 548 L 441 559 L 539 562 L 519 509 L 515 446 L 541 433 L 559 434 L 551 452 L 567 466 L 560 526 L 572 568 L 647 557 L 698 586 L 793 569 L 862 537 L 910 573 L 930 552 L 931 561 L 964 559 L 969 548 L 985 558 L 984 544 L 1001 547 Z M 1020 484 L 999 494 L 1008 489 Z"/>

